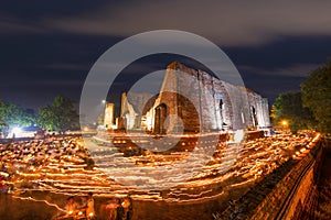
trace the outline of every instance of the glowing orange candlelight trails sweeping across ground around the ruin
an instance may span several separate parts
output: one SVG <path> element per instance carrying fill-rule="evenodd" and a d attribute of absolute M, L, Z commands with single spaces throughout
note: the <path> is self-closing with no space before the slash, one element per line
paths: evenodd
<path fill-rule="evenodd" d="M 93 191 L 96 197 L 105 198 L 125 197 L 130 194 L 134 200 L 141 202 L 203 202 L 232 189 L 252 186 L 291 157 L 299 160 L 309 152 L 313 145 L 312 142 L 316 142 L 318 138 L 319 135 L 313 140 L 312 135 L 288 134 L 256 139 L 247 141 L 239 152 L 235 144 L 213 143 L 217 144 L 216 151 L 201 173 L 194 174 L 185 183 L 177 183 L 177 187 L 151 190 L 139 187 L 150 179 L 141 180 L 141 176 L 135 173 L 135 168 L 129 173 L 126 169 L 124 174 L 130 175 L 131 182 L 137 187 L 122 186 L 109 178 L 104 170 L 114 164 L 108 163 L 109 160 L 107 160 L 108 162 L 100 167 L 95 167 L 82 138 L 65 136 L 13 142 L 0 145 L 1 189 L 15 198 L 45 202 L 60 211 L 63 210 L 61 205 L 52 202 L 49 197 L 35 196 L 40 194 L 34 193 L 83 196 Z M 96 143 L 95 140 L 90 141 Z M 188 146 L 190 146 L 189 143 L 190 140 L 188 140 Z M 139 170 L 142 167 L 147 172 L 152 172 L 156 166 L 163 166 L 167 169 L 173 161 L 185 158 L 189 153 L 190 150 L 167 155 L 150 152 L 146 155 L 124 157 L 124 153 L 114 151 L 113 160 L 119 155 L 118 158 L 129 161 L 131 166 L 139 167 Z M 235 164 L 232 164 L 232 160 L 235 160 Z M 231 167 L 225 167 L 226 162 Z M 228 170 L 223 172 L 223 169 Z M 114 176 L 120 177 L 121 169 L 117 170 L 119 173 Z M 162 179 L 162 176 L 159 178 Z"/>

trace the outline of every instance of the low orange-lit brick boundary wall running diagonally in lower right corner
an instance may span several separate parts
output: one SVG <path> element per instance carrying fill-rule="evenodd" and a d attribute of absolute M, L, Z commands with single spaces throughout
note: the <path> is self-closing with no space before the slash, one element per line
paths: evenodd
<path fill-rule="evenodd" d="M 235 208 L 227 208 L 218 219 L 277 219 L 280 213 L 282 219 L 300 219 L 303 212 L 311 215 L 317 198 L 316 169 L 321 163 L 321 154 L 322 147 L 317 146 L 301 161 L 290 160 L 282 164 L 237 200 Z M 286 206 L 285 201 L 288 201 Z"/>

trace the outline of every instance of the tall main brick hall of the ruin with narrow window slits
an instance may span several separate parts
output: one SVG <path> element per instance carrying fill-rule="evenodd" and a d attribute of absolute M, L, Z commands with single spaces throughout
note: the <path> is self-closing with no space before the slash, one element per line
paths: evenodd
<path fill-rule="evenodd" d="M 178 62 L 168 66 L 154 108 L 161 103 L 167 106 L 168 114 L 182 118 L 188 131 L 270 125 L 268 105 L 261 96 Z M 173 120 L 169 130 L 175 131 L 175 128 Z"/>

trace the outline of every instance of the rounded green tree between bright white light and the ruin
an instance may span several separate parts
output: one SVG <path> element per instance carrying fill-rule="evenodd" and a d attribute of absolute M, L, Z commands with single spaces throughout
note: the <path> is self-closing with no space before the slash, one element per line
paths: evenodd
<path fill-rule="evenodd" d="M 56 96 L 52 105 L 41 108 L 38 124 L 46 130 L 65 132 L 78 128 L 78 114 L 74 102 L 63 96 Z"/>

